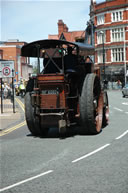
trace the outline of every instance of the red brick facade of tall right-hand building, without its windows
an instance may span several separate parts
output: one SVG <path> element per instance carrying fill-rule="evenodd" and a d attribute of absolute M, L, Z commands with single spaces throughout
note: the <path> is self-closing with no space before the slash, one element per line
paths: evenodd
<path fill-rule="evenodd" d="M 94 12 L 91 12 L 90 15 L 94 17 L 94 25 L 96 26 L 96 32 L 95 32 L 95 48 L 96 49 L 102 49 L 102 45 L 97 45 L 97 31 L 105 30 L 106 32 L 106 42 L 105 42 L 105 50 L 106 50 L 106 62 L 108 62 L 108 65 L 110 64 L 124 64 L 124 62 L 116 62 L 112 63 L 111 61 L 111 49 L 112 46 L 124 46 L 124 42 L 111 42 L 111 27 L 121 27 L 122 24 L 127 25 L 125 27 L 125 46 L 128 46 L 128 6 L 127 6 L 128 0 L 112 0 L 112 1 L 105 1 L 99 4 L 94 3 L 93 10 Z M 123 10 L 123 22 L 112 22 L 111 21 L 111 12 L 122 9 Z M 99 14 L 104 14 L 104 25 L 97 25 L 97 16 Z M 93 19 L 93 17 L 91 19 Z M 128 61 L 128 47 L 126 48 L 126 62 Z M 95 54 L 95 62 L 97 63 L 97 51 Z M 128 65 L 128 62 L 127 62 Z"/>

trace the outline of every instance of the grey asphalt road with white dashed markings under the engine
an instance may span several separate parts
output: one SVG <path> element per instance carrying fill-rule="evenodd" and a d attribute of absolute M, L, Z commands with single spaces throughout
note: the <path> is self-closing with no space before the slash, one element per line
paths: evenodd
<path fill-rule="evenodd" d="M 110 91 L 110 121 L 99 135 L 51 129 L 33 137 L 26 125 L 0 137 L 4 193 L 128 193 L 128 98 Z"/>

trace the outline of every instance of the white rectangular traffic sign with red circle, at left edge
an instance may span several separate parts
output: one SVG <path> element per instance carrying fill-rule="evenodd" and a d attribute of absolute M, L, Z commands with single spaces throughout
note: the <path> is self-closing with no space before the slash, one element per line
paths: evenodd
<path fill-rule="evenodd" d="M 12 78 L 14 77 L 14 71 L 13 60 L 0 61 L 0 78 Z"/>

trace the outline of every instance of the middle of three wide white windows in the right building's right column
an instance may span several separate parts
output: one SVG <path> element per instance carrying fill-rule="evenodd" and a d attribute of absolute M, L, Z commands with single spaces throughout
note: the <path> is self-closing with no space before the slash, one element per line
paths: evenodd
<path fill-rule="evenodd" d="M 120 42 L 124 40 L 124 28 L 112 29 L 111 42 Z"/>

